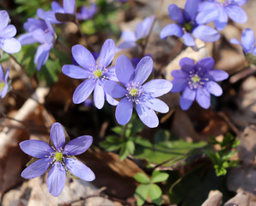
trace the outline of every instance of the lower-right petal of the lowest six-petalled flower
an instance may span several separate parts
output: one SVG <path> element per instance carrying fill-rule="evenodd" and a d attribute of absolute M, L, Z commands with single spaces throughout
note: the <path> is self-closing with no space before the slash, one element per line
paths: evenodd
<path fill-rule="evenodd" d="M 94 172 L 89 167 L 82 164 L 81 161 L 67 158 L 65 165 L 70 173 L 74 174 L 77 178 L 85 181 L 93 181 L 95 179 Z"/>

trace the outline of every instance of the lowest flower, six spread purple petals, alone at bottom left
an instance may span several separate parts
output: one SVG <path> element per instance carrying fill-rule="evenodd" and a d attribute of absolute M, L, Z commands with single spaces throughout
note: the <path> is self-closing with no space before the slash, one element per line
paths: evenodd
<path fill-rule="evenodd" d="M 50 136 L 54 147 L 40 140 L 26 140 L 20 143 L 21 150 L 38 158 L 21 173 L 25 179 L 34 179 L 46 173 L 48 191 L 58 197 L 65 185 L 66 172 L 85 181 L 95 179 L 90 168 L 77 161 L 73 155 L 84 153 L 92 144 L 92 136 L 79 136 L 65 144 L 64 128 L 61 124 L 52 124 Z"/>

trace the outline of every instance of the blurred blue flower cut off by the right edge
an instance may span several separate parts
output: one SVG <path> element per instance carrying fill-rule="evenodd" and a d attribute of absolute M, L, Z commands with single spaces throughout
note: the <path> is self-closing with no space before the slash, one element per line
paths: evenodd
<path fill-rule="evenodd" d="M 241 42 L 237 39 L 230 39 L 230 43 L 241 45 L 245 54 L 251 53 L 256 56 L 255 37 L 252 29 L 242 30 Z"/>

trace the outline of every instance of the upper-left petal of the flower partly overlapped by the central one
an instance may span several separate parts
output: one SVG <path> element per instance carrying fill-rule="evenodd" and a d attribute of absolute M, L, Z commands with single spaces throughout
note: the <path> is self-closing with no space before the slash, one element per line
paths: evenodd
<path fill-rule="evenodd" d="M 72 54 L 76 60 L 76 63 L 81 65 L 86 70 L 90 70 L 96 65 L 94 56 L 83 45 L 74 45 L 72 47 Z"/>

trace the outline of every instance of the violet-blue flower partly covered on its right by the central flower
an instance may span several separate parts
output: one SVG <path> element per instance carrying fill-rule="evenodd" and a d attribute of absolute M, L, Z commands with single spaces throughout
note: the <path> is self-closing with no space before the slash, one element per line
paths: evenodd
<path fill-rule="evenodd" d="M 117 81 L 114 67 L 108 68 L 115 55 L 115 44 L 113 39 L 107 39 L 102 45 L 98 61 L 95 61 L 93 54 L 82 45 L 72 47 L 73 58 L 81 67 L 68 64 L 62 68 L 66 76 L 74 79 L 85 79 L 73 94 L 73 102 L 80 104 L 88 99 L 94 91 L 94 105 L 101 109 L 104 106 L 105 97 L 109 104 L 117 105 L 114 100 L 105 92 L 105 82 L 108 80 Z"/>

